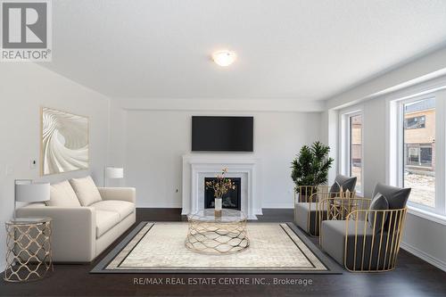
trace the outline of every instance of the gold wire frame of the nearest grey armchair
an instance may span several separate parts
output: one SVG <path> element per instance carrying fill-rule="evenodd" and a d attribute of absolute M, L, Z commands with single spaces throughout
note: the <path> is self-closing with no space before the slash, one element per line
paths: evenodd
<path fill-rule="evenodd" d="M 327 212 L 327 219 L 345 221 L 345 243 L 343 266 L 351 272 L 384 272 L 396 266 L 402 233 L 406 221 L 407 208 L 398 210 L 368 210 L 371 200 L 366 198 L 326 199 L 319 204 L 338 202 L 333 211 Z M 353 202 L 353 203 L 351 203 Z M 333 204 L 332 204 L 333 205 Z M 341 206 L 339 206 L 341 205 Z M 321 206 L 323 207 L 323 206 Z M 336 210 L 337 209 L 337 210 Z M 339 211 L 340 210 L 340 211 Z M 368 223 L 368 218 L 373 223 Z M 319 216 L 319 219 L 322 218 Z M 351 223 L 353 221 L 353 223 Z M 319 243 L 322 245 L 322 221 L 319 221 Z M 354 234 L 349 230 L 354 228 Z M 371 235 L 371 237 L 369 237 Z M 353 263 L 349 259 L 349 244 L 352 245 Z M 374 254 L 376 259 L 374 260 Z M 351 255 L 350 255 L 351 256 Z"/>

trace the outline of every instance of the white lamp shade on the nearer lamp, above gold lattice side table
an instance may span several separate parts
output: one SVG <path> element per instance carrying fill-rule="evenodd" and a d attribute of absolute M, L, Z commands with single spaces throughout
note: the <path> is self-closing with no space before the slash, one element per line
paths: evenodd
<path fill-rule="evenodd" d="M 50 200 L 49 183 L 15 182 L 15 201 L 44 202 Z"/>

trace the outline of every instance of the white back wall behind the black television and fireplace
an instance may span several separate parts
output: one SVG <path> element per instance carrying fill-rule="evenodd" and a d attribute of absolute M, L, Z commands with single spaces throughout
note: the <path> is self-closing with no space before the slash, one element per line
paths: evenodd
<path fill-rule="evenodd" d="M 128 111 L 126 183 L 137 188 L 137 206 L 181 207 L 181 156 L 190 153 L 193 115 L 253 116 L 262 206 L 293 206 L 290 162 L 301 145 L 318 140 L 319 112 Z"/>

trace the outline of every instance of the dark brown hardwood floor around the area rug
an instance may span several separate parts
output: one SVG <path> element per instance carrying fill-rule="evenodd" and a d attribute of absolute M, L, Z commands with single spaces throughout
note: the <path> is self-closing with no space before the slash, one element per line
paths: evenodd
<path fill-rule="evenodd" d="M 138 209 L 136 220 L 184 220 L 178 209 Z M 260 221 L 293 221 L 293 210 L 264 210 Z M 397 268 L 385 273 L 349 273 L 343 275 L 184 275 L 184 274 L 96 274 L 88 272 L 112 247 L 91 264 L 54 265 L 51 276 L 27 284 L 10 284 L 3 280 L 1 296 L 446 296 L 446 272 L 401 250 Z M 313 239 L 315 240 L 315 239 Z M 282 282 L 306 280 L 311 285 L 134 285 L 135 278 L 156 277 L 265 277 Z"/>

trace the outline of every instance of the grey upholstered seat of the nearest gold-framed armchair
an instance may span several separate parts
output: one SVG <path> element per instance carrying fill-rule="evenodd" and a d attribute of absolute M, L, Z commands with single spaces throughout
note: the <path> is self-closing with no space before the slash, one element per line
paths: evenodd
<path fill-rule="evenodd" d="M 372 228 L 365 221 L 325 220 L 322 222 L 320 232 L 322 249 L 341 265 L 344 265 L 345 236 L 348 236 L 346 268 L 382 269 L 390 264 L 390 257 L 388 253 L 386 254 L 385 248 L 387 246 L 387 252 L 390 251 L 386 243 L 387 239 L 392 242 L 392 236 L 388 236 L 384 231 L 374 235 Z"/>

